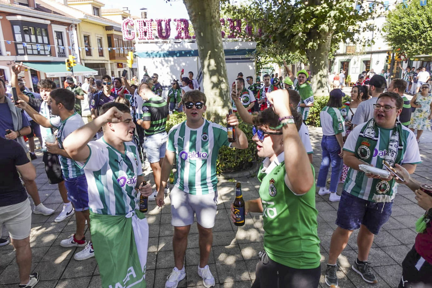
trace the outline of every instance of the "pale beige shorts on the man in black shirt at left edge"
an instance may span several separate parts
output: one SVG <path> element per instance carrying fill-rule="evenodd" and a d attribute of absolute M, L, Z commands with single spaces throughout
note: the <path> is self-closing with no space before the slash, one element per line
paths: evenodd
<path fill-rule="evenodd" d="M 0 237 L 3 224 L 9 231 L 9 236 L 22 240 L 30 235 L 32 229 L 32 208 L 29 198 L 21 203 L 0 207 Z"/>

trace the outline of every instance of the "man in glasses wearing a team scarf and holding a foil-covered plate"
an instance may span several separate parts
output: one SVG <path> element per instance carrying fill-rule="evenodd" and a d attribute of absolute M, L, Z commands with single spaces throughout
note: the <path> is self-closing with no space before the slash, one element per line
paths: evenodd
<path fill-rule="evenodd" d="M 376 75 L 374 76 L 376 77 Z M 336 260 L 348 243 L 354 229 L 359 229 L 357 259 L 353 270 L 368 283 L 377 279 L 368 264 L 374 235 L 391 216 L 391 207 L 397 193 L 397 183 L 391 176 L 380 178 L 359 170 L 360 164 L 383 169 L 383 161 L 391 167 L 399 164 L 413 173 L 421 163 L 414 133 L 398 120 L 403 99 L 397 93 L 386 92 L 374 104 L 374 117 L 357 125 L 343 145 L 343 163 L 348 175 L 337 210 L 336 224 L 330 242 L 330 254 L 324 280 L 330 287 L 338 287 Z"/>

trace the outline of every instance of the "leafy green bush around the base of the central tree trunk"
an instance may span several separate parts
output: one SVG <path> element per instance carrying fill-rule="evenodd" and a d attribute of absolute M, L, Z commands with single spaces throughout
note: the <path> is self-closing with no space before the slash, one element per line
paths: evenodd
<path fill-rule="evenodd" d="M 237 115 L 237 117 L 239 117 Z M 240 118 L 240 117 L 239 117 Z M 186 114 L 178 113 L 172 114 L 166 123 L 166 131 L 172 128 L 172 126 L 183 122 L 186 120 Z M 221 123 L 219 123 L 221 124 Z M 226 123 L 221 125 L 225 126 Z M 222 147 L 219 150 L 219 157 L 216 161 L 216 173 L 220 174 L 222 172 L 233 172 L 242 171 L 251 168 L 254 162 L 257 162 L 260 158 L 257 156 L 257 150 L 255 149 L 255 142 L 252 141 L 252 125 L 246 124 L 240 120 L 238 127 L 245 132 L 248 138 L 248 148 L 247 149 L 235 149 L 229 147 Z"/>

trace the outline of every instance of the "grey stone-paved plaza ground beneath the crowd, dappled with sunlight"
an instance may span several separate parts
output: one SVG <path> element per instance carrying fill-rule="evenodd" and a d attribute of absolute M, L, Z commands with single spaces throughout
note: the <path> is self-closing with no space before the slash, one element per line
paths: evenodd
<path fill-rule="evenodd" d="M 314 148 L 315 175 L 318 176 L 321 163 L 321 128 L 309 128 L 311 142 Z M 432 132 L 425 132 L 422 136 L 420 153 L 422 163 L 417 166 L 414 178 L 423 183 L 432 183 Z M 32 246 L 32 271 L 39 272 L 41 280 L 38 288 L 97 288 L 101 287 L 99 270 L 95 258 L 76 261 L 73 254 L 83 248 L 60 247 L 60 241 L 68 238 L 75 231 L 75 217 L 63 222 L 54 222 L 63 205 L 57 185 L 48 184 L 41 161 L 33 160 L 36 167 L 39 194 L 46 207 L 55 209 L 52 216 L 32 214 L 32 233 L 30 242 Z M 147 172 L 148 173 L 148 172 Z M 147 174 L 153 182 L 151 174 Z M 329 175 L 330 178 L 330 175 Z M 236 178 L 241 182 L 245 200 L 258 197 L 260 183 L 256 175 Z M 263 249 L 262 217 L 253 213 L 246 217 L 246 224 L 236 227 L 229 220 L 229 207 L 235 197 L 235 183 L 221 179 L 219 181 L 218 211 L 216 225 L 213 229 L 213 249 L 210 253 L 210 269 L 216 279 L 216 287 L 242 288 L 251 287 L 255 279 L 255 265 L 258 262 L 257 253 Z M 342 185 L 339 185 L 339 193 Z M 318 213 L 318 236 L 321 239 L 321 270 L 324 272 L 327 263 L 330 238 L 336 228 L 334 221 L 338 202 L 328 201 L 316 194 L 316 207 Z M 147 219 L 150 225 L 149 253 L 147 257 L 146 281 L 147 287 L 164 287 L 166 277 L 174 266 L 172 252 L 173 228 L 170 224 L 171 213 L 169 198 L 165 200 L 165 207 L 157 209 L 154 202 L 149 202 Z M 394 200 L 392 216 L 382 227 L 379 235 L 375 237 L 370 253 L 370 262 L 378 279 L 377 285 L 369 285 L 350 267 L 356 258 L 356 236 L 354 231 L 349 244 L 339 257 L 340 269 L 337 272 L 340 287 L 397 287 L 403 258 L 412 247 L 416 232 L 415 222 L 424 211 L 417 206 L 414 194 L 407 187 L 400 185 Z M 197 275 L 199 261 L 197 227 L 191 228 L 186 251 L 186 278 L 178 287 L 204 287 Z M 89 238 L 89 231 L 86 237 Z M 3 238 L 8 237 L 5 228 L 2 230 Z M 119 257 L 123 257 L 119 255 Z M 15 261 L 15 252 L 11 244 L 0 247 L 0 288 L 18 287 L 18 267 Z M 321 276 L 321 287 L 324 276 Z"/>

